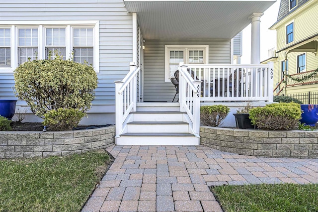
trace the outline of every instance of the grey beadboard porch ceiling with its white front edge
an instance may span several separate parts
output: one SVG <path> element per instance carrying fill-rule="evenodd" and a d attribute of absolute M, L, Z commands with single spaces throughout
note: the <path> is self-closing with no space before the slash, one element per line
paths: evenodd
<path fill-rule="evenodd" d="M 144 39 L 231 39 L 276 0 L 124 0 Z"/>

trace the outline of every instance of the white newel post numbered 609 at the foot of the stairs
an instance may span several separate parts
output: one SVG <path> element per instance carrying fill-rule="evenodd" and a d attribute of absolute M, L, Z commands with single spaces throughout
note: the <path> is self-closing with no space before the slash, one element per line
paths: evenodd
<path fill-rule="evenodd" d="M 201 98 L 201 81 L 196 80 L 193 82 L 194 87 L 197 89 L 196 94 L 193 97 L 193 131 L 195 136 L 199 137 L 200 135 L 200 98 Z M 195 92 L 195 91 L 194 91 Z"/>

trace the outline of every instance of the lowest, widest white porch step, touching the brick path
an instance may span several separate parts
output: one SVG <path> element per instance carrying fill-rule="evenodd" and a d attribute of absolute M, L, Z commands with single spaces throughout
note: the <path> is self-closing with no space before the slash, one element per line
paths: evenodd
<path fill-rule="evenodd" d="M 117 145 L 199 145 L 200 138 L 190 133 L 125 133 Z"/>

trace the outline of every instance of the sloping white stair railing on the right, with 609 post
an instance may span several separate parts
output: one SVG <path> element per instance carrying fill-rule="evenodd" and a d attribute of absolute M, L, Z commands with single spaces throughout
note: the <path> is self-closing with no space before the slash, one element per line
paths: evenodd
<path fill-rule="evenodd" d="M 189 126 L 195 136 L 200 137 L 200 91 L 201 81 L 194 80 L 187 66 L 180 64 L 179 70 L 179 103 L 180 111 L 186 112 L 190 118 Z"/>

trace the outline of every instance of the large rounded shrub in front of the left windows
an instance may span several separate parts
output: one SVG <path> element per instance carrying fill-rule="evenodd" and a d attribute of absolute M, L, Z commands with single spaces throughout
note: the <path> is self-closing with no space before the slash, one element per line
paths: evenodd
<path fill-rule="evenodd" d="M 15 95 L 43 117 L 52 109 L 87 111 L 94 100 L 97 75 L 91 66 L 72 60 L 33 60 L 14 71 Z"/>

